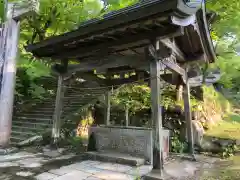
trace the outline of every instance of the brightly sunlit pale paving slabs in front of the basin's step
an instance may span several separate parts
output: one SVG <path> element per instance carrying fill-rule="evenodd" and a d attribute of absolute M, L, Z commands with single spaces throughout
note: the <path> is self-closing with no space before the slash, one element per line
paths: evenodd
<path fill-rule="evenodd" d="M 131 167 L 126 165 L 83 161 L 36 176 L 37 180 L 135 180 L 151 171 L 151 166 Z"/>

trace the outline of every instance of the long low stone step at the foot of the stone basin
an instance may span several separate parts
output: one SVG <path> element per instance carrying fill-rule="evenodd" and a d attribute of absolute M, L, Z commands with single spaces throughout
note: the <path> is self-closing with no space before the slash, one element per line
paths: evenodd
<path fill-rule="evenodd" d="M 129 166 L 142 166 L 145 159 L 116 152 L 87 152 L 88 158 L 95 161 L 118 163 Z"/>

